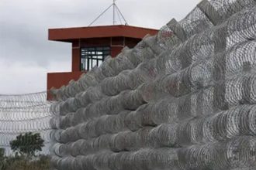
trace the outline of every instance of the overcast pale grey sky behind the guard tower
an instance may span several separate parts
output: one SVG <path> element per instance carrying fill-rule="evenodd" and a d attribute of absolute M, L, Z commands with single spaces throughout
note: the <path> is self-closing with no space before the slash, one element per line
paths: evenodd
<path fill-rule="evenodd" d="M 0 93 L 46 90 L 47 72 L 71 71 L 71 44 L 50 42 L 50 28 L 88 26 L 111 0 L 0 0 Z M 199 0 L 118 0 L 130 26 L 161 29 Z M 109 11 L 93 26 L 111 25 Z"/>

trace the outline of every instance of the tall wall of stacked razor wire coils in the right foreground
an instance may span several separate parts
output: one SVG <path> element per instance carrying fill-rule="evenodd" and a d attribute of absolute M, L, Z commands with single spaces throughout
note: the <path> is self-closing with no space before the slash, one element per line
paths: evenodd
<path fill-rule="evenodd" d="M 54 167 L 256 168 L 255 11 L 202 1 L 55 90 Z"/>

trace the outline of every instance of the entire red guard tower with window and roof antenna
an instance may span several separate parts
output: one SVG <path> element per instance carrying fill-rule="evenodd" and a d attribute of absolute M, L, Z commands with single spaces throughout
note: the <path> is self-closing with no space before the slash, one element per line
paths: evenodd
<path fill-rule="evenodd" d="M 128 26 L 127 23 L 116 25 L 115 8 L 117 12 L 119 8 L 115 1 L 111 6 L 114 8 L 112 26 L 91 26 L 92 22 L 87 27 L 49 29 L 49 40 L 71 43 L 72 70 L 65 73 L 47 73 L 47 90 L 67 85 L 70 80 L 78 80 L 82 73 L 94 66 L 100 66 L 106 56 L 116 57 L 124 46 L 133 48 L 147 34 L 154 36 L 157 33 L 157 29 Z M 50 99 L 49 96 L 48 98 Z"/>

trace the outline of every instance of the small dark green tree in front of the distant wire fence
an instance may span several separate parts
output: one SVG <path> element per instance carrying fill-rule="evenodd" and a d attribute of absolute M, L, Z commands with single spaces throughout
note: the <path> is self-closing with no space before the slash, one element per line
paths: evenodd
<path fill-rule="evenodd" d="M 43 139 L 39 133 L 19 134 L 15 140 L 10 142 L 12 151 L 18 151 L 20 155 L 31 158 L 36 155 L 36 151 L 42 151 Z"/>

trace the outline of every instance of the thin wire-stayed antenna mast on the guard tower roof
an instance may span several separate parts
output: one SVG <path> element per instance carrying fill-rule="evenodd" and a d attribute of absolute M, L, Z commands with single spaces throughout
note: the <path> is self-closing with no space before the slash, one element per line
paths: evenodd
<path fill-rule="evenodd" d="M 97 21 L 104 13 L 106 13 L 106 12 L 109 10 L 109 8 L 111 8 L 111 7 L 113 8 L 113 22 L 112 22 L 113 25 L 116 25 L 116 14 L 117 14 L 117 16 L 118 16 L 118 18 L 119 18 L 120 24 L 123 25 L 123 23 L 122 23 L 122 19 L 123 19 L 123 21 L 125 22 L 125 25 L 128 26 L 128 23 L 126 22 L 126 19 L 124 18 L 122 12 L 120 11 L 120 9 L 118 8 L 118 6 L 116 5 L 116 0 L 113 0 L 112 4 L 109 5 L 109 7 L 106 8 L 99 16 L 97 16 L 96 19 L 94 19 L 88 26 L 92 26 L 92 24 L 93 24 L 94 22 L 96 22 L 96 21 Z"/>

